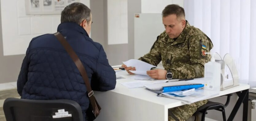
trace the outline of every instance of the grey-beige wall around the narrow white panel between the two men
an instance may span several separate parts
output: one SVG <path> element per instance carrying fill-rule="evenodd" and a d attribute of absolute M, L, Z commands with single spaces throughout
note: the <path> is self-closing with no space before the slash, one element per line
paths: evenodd
<path fill-rule="evenodd" d="M 128 44 L 107 44 L 107 0 L 91 0 L 91 38 L 103 45 L 110 65 L 134 58 L 134 13 L 141 12 L 141 0 L 128 0 Z"/>

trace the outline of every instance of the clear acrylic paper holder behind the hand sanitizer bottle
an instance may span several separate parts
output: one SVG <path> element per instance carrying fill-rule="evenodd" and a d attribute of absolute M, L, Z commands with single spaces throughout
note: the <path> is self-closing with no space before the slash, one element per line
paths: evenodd
<path fill-rule="evenodd" d="M 220 90 L 226 90 L 239 85 L 239 76 L 235 62 L 230 54 L 226 54 L 222 59 L 218 53 L 214 55 L 215 62 L 221 64 Z"/>

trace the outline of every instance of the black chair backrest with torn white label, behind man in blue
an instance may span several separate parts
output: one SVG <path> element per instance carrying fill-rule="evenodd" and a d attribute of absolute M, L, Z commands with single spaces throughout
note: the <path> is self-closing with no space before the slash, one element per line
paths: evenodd
<path fill-rule="evenodd" d="M 61 112 L 63 111 L 61 109 L 64 109 L 65 112 Z M 28 100 L 7 98 L 4 101 L 3 110 L 5 113 L 6 121 L 84 120 L 80 105 L 72 100 Z M 67 116 L 67 112 L 68 114 L 71 114 L 72 117 L 65 117 Z"/>

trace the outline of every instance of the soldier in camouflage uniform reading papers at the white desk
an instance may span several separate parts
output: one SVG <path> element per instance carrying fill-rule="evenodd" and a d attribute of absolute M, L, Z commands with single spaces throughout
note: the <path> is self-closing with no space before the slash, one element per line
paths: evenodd
<path fill-rule="evenodd" d="M 155 66 L 162 61 L 165 69 L 149 70 L 147 74 L 157 80 L 204 77 L 204 64 L 211 59 L 205 52 L 213 48 L 210 38 L 200 29 L 189 25 L 184 9 L 179 5 L 167 5 L 162 11 L 162 20 L 165 31 L 157 37 L 149 53 L 139 60 Z M 122 67 L 130 74 L 133 73 L 129 70 L 136 70 L 126 65 Z M 207 102 L 204 100 L 169 109 L 175 117 L 169 116 L 168 119 L 185 121 Z"/>

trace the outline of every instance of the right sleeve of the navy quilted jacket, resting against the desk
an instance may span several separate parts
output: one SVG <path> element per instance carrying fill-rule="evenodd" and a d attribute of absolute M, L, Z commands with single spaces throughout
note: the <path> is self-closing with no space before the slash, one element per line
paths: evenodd
<path fill-rule="evenodd" d="M 99 58 L 97 60 L 96 73 L 93 74 L 91 79 L 92 90 L 95 91 L 108 91 L 113 90 L 116 85 L 116 75 L 114 69 L 109 65 L 107 55 L 100 47 Z"/>

